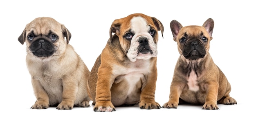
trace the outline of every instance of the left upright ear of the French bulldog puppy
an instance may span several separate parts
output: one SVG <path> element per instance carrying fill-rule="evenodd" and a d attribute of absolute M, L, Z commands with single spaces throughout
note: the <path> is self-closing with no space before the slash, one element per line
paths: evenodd
<path fill-rule="evenodd" d="M 180 22 L 177 22 L 176 20 L 172 20 L 171 23 L 170 23 L 170 28 L 171 28 L 171 31 L 173 33 L 173 40 L 175 42 L 176 42 L 176 39 L 177 39 L 177 35 L 179 34 L 180 29 L 182 27 L 183 26 L 180 24 Z"/>

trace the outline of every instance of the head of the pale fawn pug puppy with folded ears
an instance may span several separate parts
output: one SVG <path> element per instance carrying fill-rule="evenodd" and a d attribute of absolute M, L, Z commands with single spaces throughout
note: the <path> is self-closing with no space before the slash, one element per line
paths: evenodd
<path fill-rule="evenodd" d="M 18 40 L 21 44 L 26 42 L 28 54 L 43 59 L 64 52 L 68 43 L 64 41 L 67 33 L 65 26 L 52 18 L 43 17 L 27 24 Z"/>

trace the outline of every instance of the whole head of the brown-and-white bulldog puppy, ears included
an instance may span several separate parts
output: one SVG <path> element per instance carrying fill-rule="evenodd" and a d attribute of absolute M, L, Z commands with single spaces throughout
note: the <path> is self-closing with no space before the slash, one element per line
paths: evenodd
<path fill-rule="evenodd" d="M 129 15 L 115 20 L 112 24 L 114 27 L 112 32 L 119 37 L 121 47 L 128 59 L 134 62 L 137 59 L 157 57 L 159 25 L 162 26 L 162 23 L 155 18 Z"/>

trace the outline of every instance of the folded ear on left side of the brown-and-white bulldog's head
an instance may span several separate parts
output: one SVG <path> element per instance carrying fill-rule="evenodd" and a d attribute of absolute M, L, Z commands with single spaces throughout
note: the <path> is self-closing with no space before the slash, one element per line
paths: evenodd
<path fill-rule="evenodd" d="M 115 33 L 116 35 L 120 34 L 120 26 L 121 23 L 119 22 L 119 20 L 114 20 L 114 22 L 111 24 L 109 29 L 110 42 L 112 42 L 113 39 L 112 33 Z"/>

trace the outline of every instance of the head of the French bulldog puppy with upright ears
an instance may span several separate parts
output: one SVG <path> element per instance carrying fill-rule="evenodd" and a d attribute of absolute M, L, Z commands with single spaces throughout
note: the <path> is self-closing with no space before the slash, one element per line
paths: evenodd
<path fill-rule="evenodd" d="M 185 27 L 182 27 L 177 21 L 172 21 L 170 26 L 179 53 L 185 59 L 197 60 L 207 55 L 212 39 L 213 20 L 208 19 L 203 26 Z"/>

